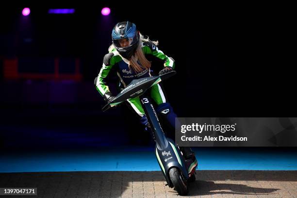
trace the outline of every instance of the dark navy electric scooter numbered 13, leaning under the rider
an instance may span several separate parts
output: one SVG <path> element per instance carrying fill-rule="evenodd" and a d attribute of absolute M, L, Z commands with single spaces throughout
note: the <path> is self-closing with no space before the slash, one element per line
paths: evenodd
<path fill-rule="evenodd" d="M 115 99 L 106 104 L 102 108 L 102 111 L 104 112 L 110 107 L 118 105 L 127 99 L 139 97 L 148 118 L 148 123 L 150 124 L 151 130 L 154 134 L 156 142 L 155 154 L 167 182 L 166 185 L 170 188 L 174 187 L 179 195 L 187 195 L 189 191 L 188 182 L 196 180 L 195 169 L 197 167 L 197 160 L 186 160 L 181 154 L 179 147 L 175 146 L 174 141 L 165 137 L 158 115 L 147 92 L 147 90 L 153 85 L 164 81 L 175 74 L 176 71 L 170 71 L 159 76 L 133 80 L 115 97 Z"/>

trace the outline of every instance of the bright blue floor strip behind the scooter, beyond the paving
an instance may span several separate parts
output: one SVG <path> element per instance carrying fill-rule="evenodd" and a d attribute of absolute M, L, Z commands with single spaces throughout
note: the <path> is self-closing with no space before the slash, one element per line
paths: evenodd
<path fill-rule="evenodd" d="M 273 148 L 194 148 L 199 170 L 297 170 L 297 152 Z M 156 171 L 153 148 L 7 153 L 0 172 Z"/>

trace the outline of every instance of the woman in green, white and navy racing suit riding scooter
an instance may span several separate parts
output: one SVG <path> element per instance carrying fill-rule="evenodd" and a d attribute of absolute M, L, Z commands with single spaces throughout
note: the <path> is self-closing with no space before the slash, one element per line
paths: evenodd
<path fill-rule="evenodd" d="M 137 29 L 136 25 L 130 21 L 119 22 L 112 31 L 113 44 L 109 47 L 109 53 L 103 58 L 103 65 L 96 78 L 95 85 L 105 101 L 111 101 L 115 97 L 108 87 L 107 77 L 117 75 L 119 87 L 125 88 L 134 79 L 153 76 L 152 65 L 162 63 L 164 68 L 160 74 L 167 73 L 174 69 L 175 62 L 158 49 L 158 41 L 150 41 L 145 38 Z M 155 70 L 155 69 L 154 69 Z M 150 96 L 157 104 L 157 113 L 175 128 L 175 118 L 173 108 L 167 102 L 164 91 L 159 84 L 151 88 Z M 140 121 L 149 130 L 150 126 L 145 112 L 141 106 L 139 97 L 128 99 L 127 102 L 132 109 L 140 116 Z M 171 130 L 174 132 L 174 130 Z M 195 158 L 190 147 L 180 147 L 185 159 Z"/>

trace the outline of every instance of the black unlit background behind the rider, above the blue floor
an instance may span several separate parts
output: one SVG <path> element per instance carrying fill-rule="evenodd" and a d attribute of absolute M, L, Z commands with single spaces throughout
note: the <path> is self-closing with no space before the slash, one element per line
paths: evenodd
<path fill-rule="evenodd" d="M 101 16 L 104 6 L 111 15 Z M 4 6 L 5 7 L 5 6 Z M 94 5 L 7 5 L 0 12 L 0 148 L 64 149 L 151 145 L 138 117 L 125 105 L 102 113 L 93 84 L 111 44 L 113 26 L 124 20 L 159 41 L 176 61 L 177 75 L 164 82 L 180 117 L 295 117 L 296 61 L 290 7 L 282 5 L 144 4 L 100 1 Z M 30 16 L 22 16 L 30 7 Z M 50 15 L 49 8 L 75 8 Z M 18 73 L 74 73 L 67 77 L 7 78 Z"/>

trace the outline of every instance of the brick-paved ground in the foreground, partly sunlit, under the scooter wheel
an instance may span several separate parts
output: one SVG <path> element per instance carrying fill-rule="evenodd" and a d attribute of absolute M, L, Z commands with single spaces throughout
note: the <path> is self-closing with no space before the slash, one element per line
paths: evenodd
<path fill-rule="evenodd" d="M 200 170 L 190 198 L 297 198 L 297 171 Z M 37 187 L 25 198 L 173 198 L 161 171 L 0 173 L 0 187 Z M 0 198 L 20 196 L 0 196 Z"/>

